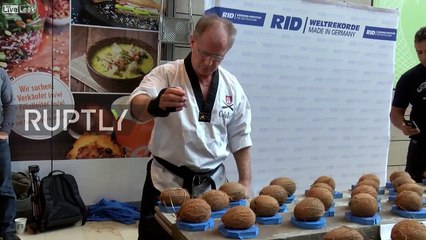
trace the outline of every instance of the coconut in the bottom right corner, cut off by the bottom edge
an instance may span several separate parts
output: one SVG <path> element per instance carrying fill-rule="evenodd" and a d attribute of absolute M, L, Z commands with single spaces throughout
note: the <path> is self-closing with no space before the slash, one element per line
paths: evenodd
<path fill-rule="evenodd" d="M 391 230 L 392 240 L 425 240 L 426 226 L 414 219 L 397 222 Z"/>

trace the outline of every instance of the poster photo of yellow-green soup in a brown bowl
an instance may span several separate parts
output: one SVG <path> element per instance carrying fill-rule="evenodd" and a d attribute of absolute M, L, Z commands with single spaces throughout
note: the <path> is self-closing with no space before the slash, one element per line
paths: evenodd
<path fill-rule="evenodd" d="M 130 93 L 157 62 L 157 33 L 71 27 L 71 91 Z"/>

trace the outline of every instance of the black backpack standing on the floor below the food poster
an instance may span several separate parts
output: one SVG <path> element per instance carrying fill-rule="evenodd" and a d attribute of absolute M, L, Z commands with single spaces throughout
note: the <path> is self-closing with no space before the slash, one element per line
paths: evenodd
<path fill-rule="evenodd" d="M 71 226 L 87 220 L 86 206 L 81 199 L 74 176 L 54 170 L 40 183 L 41 214 L 37 219 L 39 231 Z"/>

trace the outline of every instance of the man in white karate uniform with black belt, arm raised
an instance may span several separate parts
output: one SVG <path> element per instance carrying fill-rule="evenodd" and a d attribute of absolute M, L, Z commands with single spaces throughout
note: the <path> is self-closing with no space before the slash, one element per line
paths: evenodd
<path fill-rule="evenodd" d="M 231 153 L 249 194 L 251 108 L 236 77 L 219 66 L 235 35 L 232 22 L 202 16 L 190 38 L 191 53 L 154 68 L 130 96 L 133 118 L 155 121 L 139 239 L 162 236 L 152 217 L 162 190 L 183 187 L 198 196 L 219 188 Z"/>

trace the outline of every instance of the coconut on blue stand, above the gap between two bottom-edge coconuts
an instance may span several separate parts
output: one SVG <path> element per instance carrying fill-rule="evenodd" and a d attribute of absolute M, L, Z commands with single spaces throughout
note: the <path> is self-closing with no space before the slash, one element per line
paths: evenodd
<path fill-rule="evenodd" d="M 377 199 L 368 193 L 358 193 L 349 200 L 349 209 L 356 217 L 372 217 L 377 208 Z"/>

